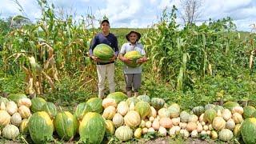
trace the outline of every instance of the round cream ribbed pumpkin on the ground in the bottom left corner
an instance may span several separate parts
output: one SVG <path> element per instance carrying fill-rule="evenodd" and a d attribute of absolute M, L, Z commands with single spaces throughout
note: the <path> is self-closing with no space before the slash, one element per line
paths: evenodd
<path fill-rule="evenodd" d="M 18 137 L 18 134 L 19 134 L 18 127 L 14 125 L 6 125 L 2 129 L 2 135 L 4 138 L 15 139 Z"/>

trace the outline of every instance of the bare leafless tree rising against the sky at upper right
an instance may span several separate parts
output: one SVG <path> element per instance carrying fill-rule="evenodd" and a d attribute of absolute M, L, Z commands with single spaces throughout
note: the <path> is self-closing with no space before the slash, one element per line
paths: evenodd
<path fill-rule="evenodd" d="M 181 0 L 181 17 L 186 24 L 196 22 L 201 14 L 203 0 Z"/>

